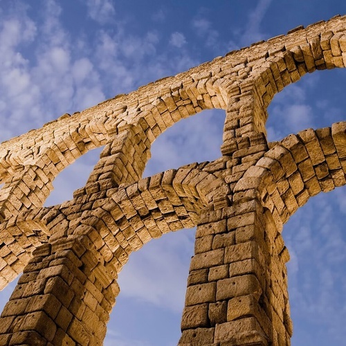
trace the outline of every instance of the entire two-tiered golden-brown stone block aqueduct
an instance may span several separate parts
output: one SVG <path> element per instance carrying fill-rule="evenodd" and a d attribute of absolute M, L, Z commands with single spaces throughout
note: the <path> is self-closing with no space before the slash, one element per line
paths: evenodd
<path fill-rule="evenodd" d="M 345 185 L 346 122 L 266 140 L 266 108 L 305 73 L 346 66 L 346 16 L 217 57 L 0 145 L 0 286 L 23 272 L 0 345 L 101 345 L 129 255 L 197 226 L 179 345 L 289 345 L 282 225 Z M 226 111 L 221 157 L 141 179 L 167 127 Z M 84 188 L 43 208 L 53 179 L 104 146 Z"/>

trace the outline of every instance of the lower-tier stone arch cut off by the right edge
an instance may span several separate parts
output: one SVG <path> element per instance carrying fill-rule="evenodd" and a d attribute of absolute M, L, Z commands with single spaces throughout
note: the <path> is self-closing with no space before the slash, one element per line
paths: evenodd
<path fill-rule="evenodd" d="M 346 122 L 306 129 L 274 145 L 246 171 L 235 192 L 260 187 L 263 206 L 282 224 L 310 197 L 346 184 Z"/>

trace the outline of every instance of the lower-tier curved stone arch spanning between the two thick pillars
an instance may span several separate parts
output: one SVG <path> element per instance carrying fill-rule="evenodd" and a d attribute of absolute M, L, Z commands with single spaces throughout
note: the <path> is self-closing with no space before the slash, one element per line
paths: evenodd
<path fill-rule="evenodd" d="M 81 221 L 98 230 L 101 236 L 95 237 L 119 272 L 130 253 L 149 240 L 197 226 L 203 208 L 211 203 L 227 206 L 230 199 L 223 179 L 198 166 L 182 167 L 120 186 L 107 203 L 84 212 Z"/>

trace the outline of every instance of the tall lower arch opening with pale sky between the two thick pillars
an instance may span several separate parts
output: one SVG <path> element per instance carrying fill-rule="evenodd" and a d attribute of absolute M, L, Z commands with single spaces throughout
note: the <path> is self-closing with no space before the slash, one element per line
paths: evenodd
<path fill-rule="evenodd" d="M 193 244 L 194 229 L 183 229 L 131 254 L 119 274 L 120 294 L 104 345 L 178 343 Z"/>

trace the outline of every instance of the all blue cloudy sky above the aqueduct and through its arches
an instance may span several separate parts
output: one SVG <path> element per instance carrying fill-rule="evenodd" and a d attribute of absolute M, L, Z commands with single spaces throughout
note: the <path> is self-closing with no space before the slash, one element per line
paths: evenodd
<path fill-rule="evenodd" d="M 337 14 L 344 0 L 0 0 L 0 142 Z M 346 120 L 345 82 L 346 71 L 318 71 L 276 95 L 269 140 Z M 154 143 L 145 175 L 218 158 L 223 123 L 224 111 L 204 111 L 174 125 Z M 71 199 L 99 152 L 58 176 L 47 206 Z M 345 192 L 314 197 L 284 227 L 293 346 L 345 345 Z M 181 230 L 131 255 L 105 345 L 176 345 L 193 246 L 194 230 Z"/>

